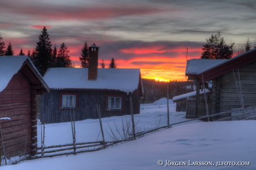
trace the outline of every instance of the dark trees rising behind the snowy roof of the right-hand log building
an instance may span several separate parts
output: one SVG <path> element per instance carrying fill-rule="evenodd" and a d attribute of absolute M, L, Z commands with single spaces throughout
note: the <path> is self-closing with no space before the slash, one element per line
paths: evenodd
<path fill-rule="evenodd" d="M 201 54 L 202 59 L 229 59 L 232 58 L 234 52 L 234 44 L 231 43 L 228 46 L 223 37 L 220 36 L 220 32 L 217 32 L 215 35 L 211 34 L 209 39 L 206 39 L 206 44 L 203 45 L 203 52 Z M 249 51 L 252 48 L 249 37 L 244 44 L 241 46 L 238 44 L 236 55 L 242 54 Z M 254 46 L 256 48 L 256 44 Z"/>

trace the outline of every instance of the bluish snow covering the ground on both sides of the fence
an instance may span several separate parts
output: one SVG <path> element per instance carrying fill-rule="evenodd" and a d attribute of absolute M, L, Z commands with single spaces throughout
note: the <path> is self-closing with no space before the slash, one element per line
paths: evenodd
<path fill-rule="evenodd" d="M 167 124 L 166 98 L 152 104 L 142 104 L 135 115 L 137 127 L 156 127 Z M 185 112 L 175 112 L 176 103 L 169 102 L 170 123 L 185 120 Z M 130 116 L 102 118 L 105 137 L 114 129 L 114 121 L 121 128 L 122 120 Z M 177 124 L 169 129 L 149 134 L 119 146 L 76 156 L 40 158 L 1 169 L 256 169 L 256 122 L 193 121 Z M 38 126 L 38 146 L 41 144 L 41 126 Z M 71 123 L 46 124 L 45 145 L 72 143 Z M 100 132 L 97 119 L 76 122 L 76 142 L 96 141 Z M 101 140 L 101 135 L 99 140 Z M 163 166 L 159 166 L 157 163 Z M 171 166 L 167 165 L 172 164 Z M 198 163 L 196 163 L 198 162 Z M 246 162 L 246 163 L 245 163 Z M 233 166 L 232 164 L 248 164 Z M 210 164 L 196 166 L 195 164 Z M 181 164 L 183 166 L 177 166 Z M 219 165 L 221 164 L 221 165 Z M 231 164 L 231 165 L 227 165 Z M 175 166 L 176 165 L 176 166 Z M 227 165 L 227 166 L 226 166 Z M 166 167 L 165 167 L 166 166 Z"/>

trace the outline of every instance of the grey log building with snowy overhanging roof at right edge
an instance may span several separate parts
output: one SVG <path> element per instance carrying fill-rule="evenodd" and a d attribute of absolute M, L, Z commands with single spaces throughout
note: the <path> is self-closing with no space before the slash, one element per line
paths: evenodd
<path fill-rule="evenodd" d="M 235 85 L 235 79 L 237 79 L 239 86 L 238 73 L 244 107 L 256 106 L 256 48 L 230 59 L 190 59 L 186 66 L 186 76 L 189 79 L 195 79 L 198 84 L 206 81 L 213 82 L 212 114 L 241 108 Z M 228 116 L 230 113 L 214 119 Z"/>

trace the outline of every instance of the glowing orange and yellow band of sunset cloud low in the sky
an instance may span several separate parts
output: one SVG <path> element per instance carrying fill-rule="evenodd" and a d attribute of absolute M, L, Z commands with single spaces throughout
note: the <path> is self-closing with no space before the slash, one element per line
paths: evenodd
<path fill-rule="evenodd" d="M 100 47 L 100 46 L 99 46 Z M 77 48 L 73 46 L 72 48 Z M 186 47 L 179 46 L 173 48 L 143 47 L 143 48 L 122 48 L 117 50 L 116 54 L 111 53 L 109 57 L 101 56 L 99 53 L 99 68 L 102 58 L 104 58 L 105 68 L 109 68 L 110 59 L 115 58 L 117 68 L 140 68 L 142 78 L 151 78 L 159 81 L 185 81 L 186 58 L 199 58 L 201 55 L 200 47 L 188 47 L 188 56 Z M 70 49 L 70 52 L 76 52 L 76 57 L 71 57 L 75 61 L 75 67 L 80 67 L 79 60 L 81 49 Z M 122 55 L 129 55 L 129 58 Z M 115 55 L 115 56 L 113 56 Z"/>

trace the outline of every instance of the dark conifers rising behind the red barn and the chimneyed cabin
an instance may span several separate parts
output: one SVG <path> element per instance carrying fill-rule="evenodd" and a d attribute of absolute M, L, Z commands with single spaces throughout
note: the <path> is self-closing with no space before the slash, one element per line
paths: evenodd
<path fill-rule="evenodd" d="M 75 67 L 70 59 L 70 52 L 65 43 L 62 43 L 60 48 L 57 49 L 56 44 L 52 47 L 49 34 L 47 33 L 46 27 L 43 27 L 41 31 L 39 41 L 36 44 L 36 48 L 33 49 L 32 53 L 29 51 L 27 52 L 27 56 L 31 59 L 35 67 L 37 68 L 38 72 L 43 76 L 48 68 L 52 67 Z M 14 51 L 12 49 L 12 44 L 9 42 L 7 48 L 4 47 L 5 43 L 3 42 L 3 38 L 0 35 L 0 56 L 13 56 Z M 5 50 L 6 48 L 6 50 Z M 25 54 L 22 51 L 19 52 L 18 56 L 24 56 Z M 88 47 L 87 42 L 83 44 L 81 57 L 79 57 L 81 61 L 81 67 L 87 68 L 88 67 Z M 116 68 L 117 64 L 114 58 L 111 59 L 109 63 L 109 68 Z M 105 68 L 104 59 L 101 62 L 101 68 Z"/>

